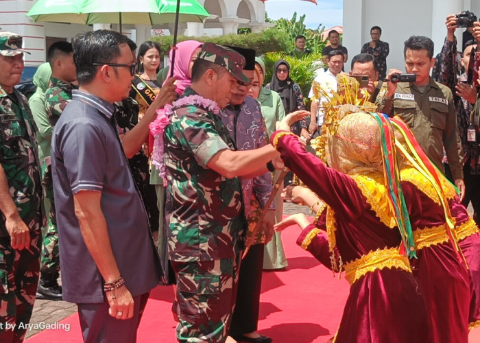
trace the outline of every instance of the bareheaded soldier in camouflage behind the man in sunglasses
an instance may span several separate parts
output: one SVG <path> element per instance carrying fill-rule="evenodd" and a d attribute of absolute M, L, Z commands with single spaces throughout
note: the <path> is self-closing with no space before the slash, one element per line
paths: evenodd
<path fill-rule="evenodd" d="M 51 79 L 49 88 L 45 92 L 45 110 L 51 126 L 54 127 L 65 106 L 72 99 L 72 91 L 75 86 L 71 82 L 77 80 L 77 73 L 73 63 L 71 43 L 64 41 L 53 43 L 49 47 L 47 56 L 51 67 Z M 57 281 L 58 276 L 60 276 L 60 251 L 58 249 L 58 228 L 49 162 L 50 159 L 46 158 L 45 163 L 43 163 L 43 168 L 45 168 L 43 185 L 51 206 L 47 230 L 45 230 L 43 237 L 37 298 L 60 300 L 62 299 L 62 287 L 58 285 Z"/>

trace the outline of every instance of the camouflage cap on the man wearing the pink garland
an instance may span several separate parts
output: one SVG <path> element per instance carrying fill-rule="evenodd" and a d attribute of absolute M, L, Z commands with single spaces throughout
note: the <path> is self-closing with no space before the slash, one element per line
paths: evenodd
<path fill-rule="evenodd" d="M 240 82 L 250 84 L 249 78 L 243 75 L 243 67 L 245 67 L 245 58 L 241 56 L 237 51 L 224 47 L 223 45 L 217 45 L 214 43 L 204 43 L 200 54 L 198 54 L 200 60 L 206 60 L 225 67 L 232 76 L 234 76 Z"/>

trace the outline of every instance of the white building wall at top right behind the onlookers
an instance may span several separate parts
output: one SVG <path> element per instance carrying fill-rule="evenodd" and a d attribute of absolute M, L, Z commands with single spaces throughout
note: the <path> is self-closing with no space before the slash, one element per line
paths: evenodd
<path fill-rule="evenodd" d="M 479 16 L 480 1 L 344 0 L 343 43 L 348 48 L 349 57 L 359 54 L 363 43 L 371 40 L 370 28 L 378 25 L 382 28 L 381 40 L 389 43 L 390 47 L 387 69 L 395 67 L 405 70 L 403 42 L 413 35 L 430 37 L 437 54 L 446 36 L 446 16 L 461 10 L 471 10 Z M 457 29 L 456 32 L 460 42 L 462 31 Z"/>

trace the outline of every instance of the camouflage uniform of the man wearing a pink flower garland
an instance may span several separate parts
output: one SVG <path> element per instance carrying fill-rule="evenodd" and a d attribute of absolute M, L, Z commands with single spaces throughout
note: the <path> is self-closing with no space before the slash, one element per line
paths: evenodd
<path fill-rule="evenodd" d="M 183 97 L 196 95 L 191 89 Z M 206 167 L 235 145 L 221 119 L 199 104 L 174 110 L 165 128 L 169 259 L 177 276 L 180 342 L 224 342 L 235 306 L 243 213 L 239 178 Z"/>

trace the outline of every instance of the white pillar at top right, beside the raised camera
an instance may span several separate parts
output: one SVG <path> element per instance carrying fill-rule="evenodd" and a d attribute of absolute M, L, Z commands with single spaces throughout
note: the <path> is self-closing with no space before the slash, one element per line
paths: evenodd
<path fill-rule="evenodd" d="M 432 0 L 432 34 L 431 38 L 435 44 L 433 56 L 438 54 L 444 45 L 446 36 L 445 19 L 448 14 L 461 12 L 464 7 L 463 0 Z M 463 29 L 456 29 L 457 49 L 461 50 L 461 34 Z"/>

